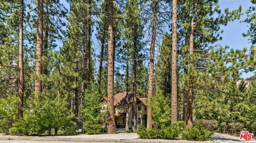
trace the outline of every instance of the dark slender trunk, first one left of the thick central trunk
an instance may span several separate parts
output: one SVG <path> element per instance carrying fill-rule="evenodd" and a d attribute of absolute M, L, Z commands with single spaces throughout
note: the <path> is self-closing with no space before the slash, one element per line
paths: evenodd
<path fill-rule="evenodd" d="M 86 84 L 85 89 L 87 89 L 90 85 L 90 73 L 91 73 L 91 0 L 88 0 L 87 7 L 87 40 L 86 40 Z"/>

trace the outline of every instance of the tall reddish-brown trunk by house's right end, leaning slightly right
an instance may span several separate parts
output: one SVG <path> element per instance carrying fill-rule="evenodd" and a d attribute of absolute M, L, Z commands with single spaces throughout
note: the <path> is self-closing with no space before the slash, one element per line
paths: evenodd
<path fill-rule="evenodd" d="M 148 103 L 150 104 L 150 98 L 153 95 L 153 72 L 154 72 L 154 55 L 155 55 L 155 43 L 156 43 L 156 18 L 157 18 L 158 2 L 154 0 L 153 7 L 153 28 L 150 45 L 150 61 L 149 61 L 149 79 L 148 79 Z M 148 106 L 147 115 L 147 128 L 152 128 L 152 111 Z"/>

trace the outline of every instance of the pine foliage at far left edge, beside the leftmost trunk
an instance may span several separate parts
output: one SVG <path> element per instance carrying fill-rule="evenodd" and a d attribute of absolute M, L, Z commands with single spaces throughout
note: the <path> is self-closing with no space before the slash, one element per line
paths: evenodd
<path fill-rule="evenodd" d="M 8 1 L 0 3 L 0 92 L 2 97 L 18 96 L 19 8 L 18 3 Z"/>

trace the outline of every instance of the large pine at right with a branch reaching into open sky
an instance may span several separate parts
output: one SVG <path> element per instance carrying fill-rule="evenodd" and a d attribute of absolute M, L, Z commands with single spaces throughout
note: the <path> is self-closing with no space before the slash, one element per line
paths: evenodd
<path fill-rule="evenodd" d="M 239 16 L 241 16 L 241 7 L 232 12 L 229 12 L 227 9 L 225 10 L 224 14 L 221 14 L 218 5 L 214 5 L 216 3 L 215 1 L 207 1 L 207 3 L 209 3 L 211 6 L 204 9 L 206 7 L 205 3 L 203 4 L 201 1 L 191 1 L 187 3 L 183 10 L 186 11 L 187 14 L 191 11 L 191 15 L 193 16 L 190 18 L 190 20 L 185 16 L 186 13 L 183 15 L 184 17 L 180 16 L 182 20 L 187 21 L 187 23 L 183 24 L 182 26 L 185 29 L 189 29 L 189 31 L 184 30 L 182 32 L 181 30 L 179 32 L 186 34 L 186 36 L 184 36 L 186 39 L 185 43 L 182 44 L 182 50 L 186 51 L 187 53 L 189 49 L 189 54 L 185 56 L 183 61 L 185 74 L 181 75 L 181 80 L 183 80 L 182 83 L 185 85 L 185 90 L 183 92 L 184 106 L 187 106 L 183 108 L 184 112 L 187 113 L 187 115 L 185 114 L 186 116 L 184 115 L 184 119 L 190 126 L 193 125 L 193 94 L 196 92 L 198 84 L 200 85 L 200 82 L 202 82 L 201 79 L 203 78 L 200 76 L 207 74 L 208 68 L 204 65 L 205 59 L 208 59 L 207 56 L 209 54 L 209 49 L 216 47 L 210 47 L 210 45 L 221 39 L 219 36 L 219 33 L 221 32 L 219 25 L 226 25 L 228 21 L 238 19 Z M 212 13 L 217 13 L 219 17 L 213 18 Z M 219 24 L 218 26 L 217 23 Z M 197 33 L 196 36 L 194 35 L 195 31 Z M 188 77 L 185 78 L 183 75 Z M 186 81 L 186 79 L 188 80 Z M 186 87 L 186 85 L 188 86 Z"/>

